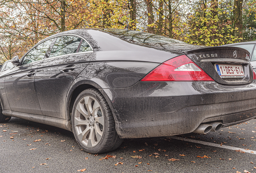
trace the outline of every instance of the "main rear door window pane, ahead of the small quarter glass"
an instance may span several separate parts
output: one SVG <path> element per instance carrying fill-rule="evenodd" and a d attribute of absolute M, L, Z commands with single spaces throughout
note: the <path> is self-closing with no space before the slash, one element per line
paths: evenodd
<path fill-rule="evenodd" d="M 81 38 L 76 36 L 58 37 L 52 48 L 50 58 L 54 56 L 76 53 L 80 41 Z"/>

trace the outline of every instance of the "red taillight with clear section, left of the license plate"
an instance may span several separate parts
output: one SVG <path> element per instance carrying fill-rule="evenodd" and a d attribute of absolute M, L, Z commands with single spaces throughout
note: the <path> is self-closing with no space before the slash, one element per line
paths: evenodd
<path fill-rule="evenodd" d="M 140 81 L 214 81 L 188 56 L 181 55 L 163 62 Z"/>

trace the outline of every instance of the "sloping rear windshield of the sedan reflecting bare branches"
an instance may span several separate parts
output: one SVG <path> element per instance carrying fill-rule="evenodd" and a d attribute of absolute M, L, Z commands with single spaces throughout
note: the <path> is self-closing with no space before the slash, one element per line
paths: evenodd
<path fill-rule="evenodd" d="M 180 40 L 168 38 L 165 36 L 159 36 L 156 34 L 149 34 L 146 32 L 134 31 L 134 30 L 122 30 L 122 29 L 102 29 L 106 32 L 114 34 L 124 40 L 137 44 L 154 44 L 154 43 L 179 43 L 188 44 Z"/>

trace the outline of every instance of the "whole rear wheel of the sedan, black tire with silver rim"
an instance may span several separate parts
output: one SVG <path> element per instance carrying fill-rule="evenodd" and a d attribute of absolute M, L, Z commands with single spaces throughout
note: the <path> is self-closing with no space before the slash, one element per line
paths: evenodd
<path fill-rule="evenodd" d="M 116 132 L 111 109 L 97 89 L 86 89 L 76 98 L 72 110 L 72 129 L 78 145 L 88 153 L 113 151 L 123 141 Z"/>

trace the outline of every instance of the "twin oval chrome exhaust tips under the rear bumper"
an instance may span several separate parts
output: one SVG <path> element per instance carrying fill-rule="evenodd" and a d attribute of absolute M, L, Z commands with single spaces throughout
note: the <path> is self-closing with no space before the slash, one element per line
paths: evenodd
<path fill-rule="evenodd" d="M 219 131 L 221 129 L 222 123 L 207 123 L 207 124 L 200 124 L 196 130 L 194 130 L 194 133 L 201 133 L 201 134 L 206 134 L 209 133 L 210 131 Z"/>

